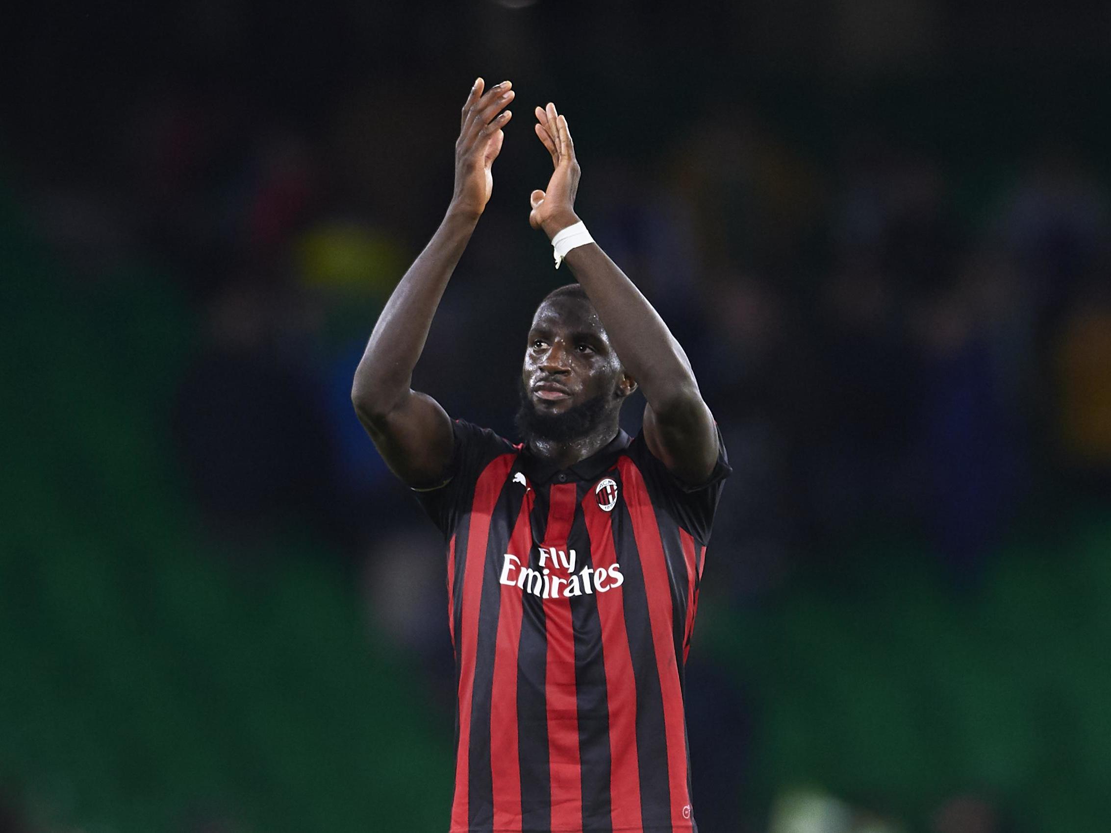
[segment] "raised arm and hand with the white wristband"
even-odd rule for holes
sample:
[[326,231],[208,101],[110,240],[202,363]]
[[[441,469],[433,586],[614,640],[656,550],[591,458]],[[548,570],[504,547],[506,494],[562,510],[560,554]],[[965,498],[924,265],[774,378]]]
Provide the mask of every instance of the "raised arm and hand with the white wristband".
[[[579,222],[574,195],[579,163],[567,119],[556,106],[537,108],[536,131],[551,153],[554,171],[546,191],[533,191],[529,222],[553,238]],[[682,347],[648,299],[597,243],[568,252],[564,262],[598,310],[625,371],[648,400],[644,440],[649,450],[677,478],[690,485],[704,483],[718,458],[713,416]]]

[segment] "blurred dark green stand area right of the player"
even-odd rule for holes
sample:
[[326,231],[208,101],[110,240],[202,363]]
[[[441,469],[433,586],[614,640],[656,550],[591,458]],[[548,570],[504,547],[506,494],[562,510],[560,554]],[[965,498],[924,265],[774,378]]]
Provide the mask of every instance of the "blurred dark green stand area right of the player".
[[1055,532],[1017,536],[982,596],[895,538],[714,615],[709,650],[753,688],[760,800],[817,785],[927,830],[943,796],[973,793],[1018,831],[1105,830],[1111,523],[1078,510]]

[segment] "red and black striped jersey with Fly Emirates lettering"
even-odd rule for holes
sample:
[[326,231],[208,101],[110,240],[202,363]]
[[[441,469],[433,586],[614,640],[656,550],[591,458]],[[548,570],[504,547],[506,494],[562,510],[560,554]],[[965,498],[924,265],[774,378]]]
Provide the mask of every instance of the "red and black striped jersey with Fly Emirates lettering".
[[450,479],[417,493],[448,540],[451,833],[697,831],[683,666],[731,471],[720,430],[697,489],[643,433],[557,470],[453,430]]

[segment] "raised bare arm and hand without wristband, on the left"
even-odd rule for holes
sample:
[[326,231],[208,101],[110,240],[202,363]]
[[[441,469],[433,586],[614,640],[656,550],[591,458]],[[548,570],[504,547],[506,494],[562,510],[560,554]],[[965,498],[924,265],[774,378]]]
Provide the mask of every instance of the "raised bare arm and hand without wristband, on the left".
[[356,370],[351,402],[379,452],[402,481],[438,485],[451,459],[451,421],[409,385],[432,317],[493,190],[491,165],[512,114],[509,81],[483,91],[474,82],[456,141],[456,188],[440,228],[387,301]]

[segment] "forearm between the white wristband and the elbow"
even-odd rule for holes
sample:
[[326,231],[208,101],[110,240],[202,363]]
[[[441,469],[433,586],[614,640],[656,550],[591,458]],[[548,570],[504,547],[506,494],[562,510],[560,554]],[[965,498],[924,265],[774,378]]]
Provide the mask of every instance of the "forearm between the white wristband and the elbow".
[[563,259],[598,310],[625,370],[658,413],[697,393],[690,361],[668,325],[637,285],[597,243]]

